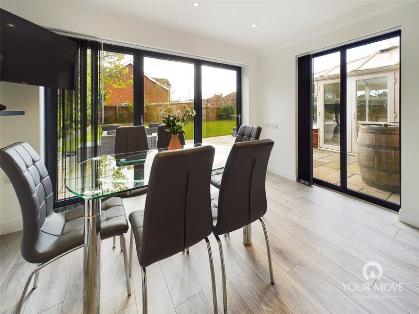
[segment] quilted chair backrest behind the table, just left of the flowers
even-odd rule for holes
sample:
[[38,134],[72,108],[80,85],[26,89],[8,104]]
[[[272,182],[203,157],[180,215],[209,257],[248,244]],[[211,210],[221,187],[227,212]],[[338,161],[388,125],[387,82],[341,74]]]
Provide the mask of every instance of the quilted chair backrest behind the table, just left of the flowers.
[[148,140],[144,125],[120,126],[116,129],[115,154],[146,150],[148,150]]

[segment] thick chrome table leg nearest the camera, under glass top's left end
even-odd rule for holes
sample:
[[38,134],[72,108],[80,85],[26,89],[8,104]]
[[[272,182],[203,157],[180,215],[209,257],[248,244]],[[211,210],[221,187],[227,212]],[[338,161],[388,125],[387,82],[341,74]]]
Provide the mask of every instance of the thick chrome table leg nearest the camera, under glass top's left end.
[[84,201],[83,313],[100,311],[100,199]]

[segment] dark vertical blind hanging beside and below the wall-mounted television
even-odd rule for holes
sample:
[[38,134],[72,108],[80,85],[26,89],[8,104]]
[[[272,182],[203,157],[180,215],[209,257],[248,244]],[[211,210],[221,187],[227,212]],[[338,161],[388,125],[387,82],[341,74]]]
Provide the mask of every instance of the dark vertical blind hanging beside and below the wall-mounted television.
[[101,46],[98,41],[68,37],[77,43],[74,90],[45,88],[46,166],[54,189],[54,208],[80,199],[68,192],[64,178],[77,163],[97,156],[101,106]]

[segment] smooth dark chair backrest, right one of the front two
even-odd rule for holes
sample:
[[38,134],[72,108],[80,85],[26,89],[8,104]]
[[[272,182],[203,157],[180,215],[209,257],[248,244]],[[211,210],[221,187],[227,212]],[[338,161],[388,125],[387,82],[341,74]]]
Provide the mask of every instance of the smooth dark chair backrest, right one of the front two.
[[216,234],[244,227],[267,210],[265,179],[272,140],[233,144],[219,189]]

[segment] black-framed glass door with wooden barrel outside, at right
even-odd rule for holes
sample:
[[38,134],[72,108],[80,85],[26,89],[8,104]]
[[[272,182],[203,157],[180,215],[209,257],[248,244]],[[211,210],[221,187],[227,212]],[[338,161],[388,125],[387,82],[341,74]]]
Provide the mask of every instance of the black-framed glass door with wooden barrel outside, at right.
[[400,32],[312,55],[314,183],[400,209],[400,70]]

